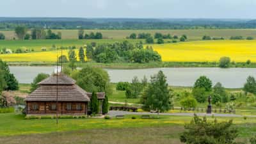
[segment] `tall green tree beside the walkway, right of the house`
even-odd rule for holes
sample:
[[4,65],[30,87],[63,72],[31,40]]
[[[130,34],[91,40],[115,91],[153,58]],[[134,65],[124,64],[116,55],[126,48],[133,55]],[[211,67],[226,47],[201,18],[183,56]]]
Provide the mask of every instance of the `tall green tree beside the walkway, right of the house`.
[[151,77],[144,97],[143,108],[157,111],[158,116],[159,112],[162,113],[172,108],[170,88],[166,83],[166,76],[161,70],[157,75]]

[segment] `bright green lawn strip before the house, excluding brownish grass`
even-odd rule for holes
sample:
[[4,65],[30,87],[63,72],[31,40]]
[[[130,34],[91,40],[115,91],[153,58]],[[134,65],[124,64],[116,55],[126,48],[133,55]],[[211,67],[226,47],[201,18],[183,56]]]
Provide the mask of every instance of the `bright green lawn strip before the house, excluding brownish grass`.
[[[131,127],[167,127],[179,126],[190,122],[191,116],[160,116],[159,119],[141,119],[136,116],[131,119],[125,116],[124,119],[112,118],[105,120],[104,118],[63,118],[60,124],[56,125],[55,119],[34,119],[26,120],[24,115],[15,115],[15,113],[0,114],[0,136],[14,136],[20,134],[42,134],[49,132],[76,131],[83,129],[112,129],[112,128],[131,128]],[[214,118],[209,117],[209,120]],[[227,121],[230,118],[218,118],[220,121]],[[256,131],[256,118],[232,118],[236,127],[241,129],[240,136],[251,136]],[[250,127],[244,128],[246,125]]]

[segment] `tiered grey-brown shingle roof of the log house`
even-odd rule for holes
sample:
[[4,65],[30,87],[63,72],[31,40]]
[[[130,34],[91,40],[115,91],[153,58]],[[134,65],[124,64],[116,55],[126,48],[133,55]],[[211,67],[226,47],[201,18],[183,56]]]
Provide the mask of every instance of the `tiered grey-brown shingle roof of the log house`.
[[[28,97],[26,101],[56,101],[57,99],[57,77],[50,76],[44,79]],[[92,93],[84,91],[77,86],[76,81],[63,74],[58,75],[58,101],[79,101],[88,102]],[[105,93],[97,93],[98,99],[105,99]]]

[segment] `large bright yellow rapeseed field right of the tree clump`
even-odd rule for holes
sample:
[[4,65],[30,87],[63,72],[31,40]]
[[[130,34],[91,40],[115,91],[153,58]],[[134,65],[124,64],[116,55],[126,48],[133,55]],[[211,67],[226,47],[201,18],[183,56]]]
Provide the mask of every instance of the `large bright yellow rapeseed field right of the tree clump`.
[[256,62],[256,40],[211,40],[152,45],[163,61],[219,61],[228,56],[232,61]]

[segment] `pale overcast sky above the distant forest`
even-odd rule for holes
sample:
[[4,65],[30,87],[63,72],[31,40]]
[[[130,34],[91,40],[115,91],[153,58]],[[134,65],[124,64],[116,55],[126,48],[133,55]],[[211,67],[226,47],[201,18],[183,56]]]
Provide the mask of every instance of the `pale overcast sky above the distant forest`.
[[256,0],[2,0],[0,17],[256,19]]

